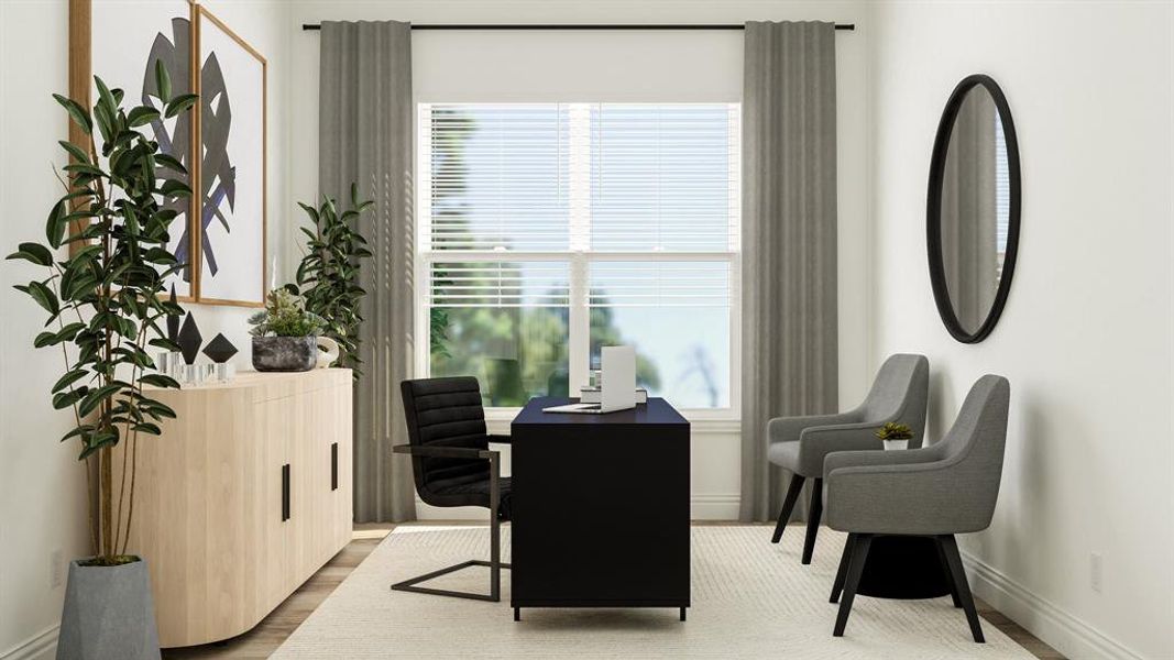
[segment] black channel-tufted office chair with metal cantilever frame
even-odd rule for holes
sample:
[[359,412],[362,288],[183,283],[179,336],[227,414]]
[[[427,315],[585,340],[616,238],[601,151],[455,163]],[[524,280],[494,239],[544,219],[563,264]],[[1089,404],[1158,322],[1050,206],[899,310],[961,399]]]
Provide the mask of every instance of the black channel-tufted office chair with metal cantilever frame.
[[[490,510],[490,560],[471,559],[391,585],[396,591],[451,595],[474,600],[501,600],[501,521],[510,519],[510,479],[500,478],[501,456],[490,443],[508,443],[508,436],[485,432],[485,409],[477,378],[425,378],[399,384],[411,444],[396,445],[394,453],[412,457],[416,492],[432,506],[485,506]],[[470,566],[488,566],[490,594],[416,586]]]

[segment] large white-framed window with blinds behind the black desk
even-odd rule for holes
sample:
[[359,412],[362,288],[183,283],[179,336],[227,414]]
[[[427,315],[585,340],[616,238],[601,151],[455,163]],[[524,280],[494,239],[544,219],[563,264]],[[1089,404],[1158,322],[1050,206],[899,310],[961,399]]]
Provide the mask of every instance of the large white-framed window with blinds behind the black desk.
[[630,344],[652,396],[736,402],[740,107],[423,103],[421,372],[571,396]]

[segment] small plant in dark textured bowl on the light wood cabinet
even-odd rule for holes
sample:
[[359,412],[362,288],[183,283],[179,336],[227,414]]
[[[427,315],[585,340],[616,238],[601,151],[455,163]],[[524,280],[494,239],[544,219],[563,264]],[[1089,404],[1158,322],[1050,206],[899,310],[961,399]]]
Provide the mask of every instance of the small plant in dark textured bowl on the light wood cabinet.
[[249,318],[252,368],[257,371],[309,371],[318,363],[318,332],[326,326],[288,289],[271,291],[265,310]]

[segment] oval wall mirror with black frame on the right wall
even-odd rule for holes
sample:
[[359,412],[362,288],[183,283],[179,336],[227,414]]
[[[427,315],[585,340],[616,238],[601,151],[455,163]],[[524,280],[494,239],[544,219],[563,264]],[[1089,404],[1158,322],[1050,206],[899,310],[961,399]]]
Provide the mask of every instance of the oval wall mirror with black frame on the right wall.
[[930,161],[930,281],[938,314],[959,342],[999,322],[1019,243],[1019,146],[1003,90],[970,75],[946,101]]

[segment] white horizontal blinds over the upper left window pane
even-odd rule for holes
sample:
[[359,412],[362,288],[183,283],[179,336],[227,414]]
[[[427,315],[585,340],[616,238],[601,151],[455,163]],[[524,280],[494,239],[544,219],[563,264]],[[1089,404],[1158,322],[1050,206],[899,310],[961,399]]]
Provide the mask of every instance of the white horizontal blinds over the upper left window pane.
[[433,250],[568,249],[567,112],[430,106]]

